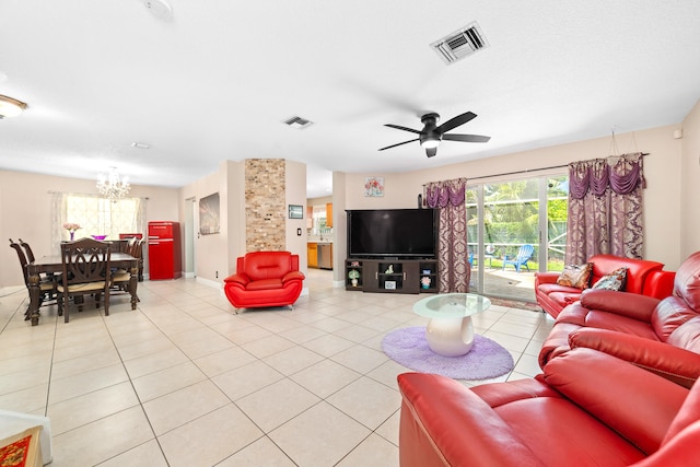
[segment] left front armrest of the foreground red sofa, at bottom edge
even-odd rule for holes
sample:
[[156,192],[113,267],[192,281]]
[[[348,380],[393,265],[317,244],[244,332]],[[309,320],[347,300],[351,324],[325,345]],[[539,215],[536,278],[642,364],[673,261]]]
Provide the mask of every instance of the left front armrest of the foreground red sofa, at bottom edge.
[[458,382],[404,373],[398,376],[398,386],[402,395],[401,467],[462,465],[467,459],[470,465],[483,466],[544,465],[513,428]]

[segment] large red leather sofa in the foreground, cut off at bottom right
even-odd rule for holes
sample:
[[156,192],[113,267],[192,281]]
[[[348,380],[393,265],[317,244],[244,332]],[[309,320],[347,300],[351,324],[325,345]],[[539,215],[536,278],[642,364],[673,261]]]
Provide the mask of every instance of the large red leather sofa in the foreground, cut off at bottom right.
[[691,389],[592,349],[532,380],[467,388],[405,373],[401,467],[700,464],[700,385]]

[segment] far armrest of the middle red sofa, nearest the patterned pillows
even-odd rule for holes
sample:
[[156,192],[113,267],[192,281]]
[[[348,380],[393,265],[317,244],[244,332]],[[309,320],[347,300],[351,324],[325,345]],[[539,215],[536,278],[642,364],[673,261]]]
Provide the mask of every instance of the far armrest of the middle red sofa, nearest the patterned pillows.
[[652,313],[660,300],[639,293],[614,290],[586,290],[581,294],[581,304],[588,310],[598,310],[628,318],[651,323]]

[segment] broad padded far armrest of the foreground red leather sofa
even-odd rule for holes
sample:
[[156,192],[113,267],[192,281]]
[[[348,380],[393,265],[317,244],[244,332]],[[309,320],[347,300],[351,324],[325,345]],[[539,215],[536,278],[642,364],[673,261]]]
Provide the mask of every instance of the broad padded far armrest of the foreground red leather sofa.
[[593,349],[545,365],[545,381],[645,453],[661,446],[688,389]]

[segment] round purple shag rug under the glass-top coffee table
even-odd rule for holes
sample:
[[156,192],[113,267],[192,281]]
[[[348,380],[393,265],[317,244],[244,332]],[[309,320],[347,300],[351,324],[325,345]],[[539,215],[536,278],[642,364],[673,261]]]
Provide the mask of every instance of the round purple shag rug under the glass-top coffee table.
[[443,357],[428,347],[424,327],[396,329],[382,340],[382,350],[401,365],[454,380],[489,380],[513,370],[513,357],[483,336],[474,336],[474,347],[464,357]]

